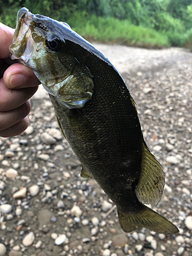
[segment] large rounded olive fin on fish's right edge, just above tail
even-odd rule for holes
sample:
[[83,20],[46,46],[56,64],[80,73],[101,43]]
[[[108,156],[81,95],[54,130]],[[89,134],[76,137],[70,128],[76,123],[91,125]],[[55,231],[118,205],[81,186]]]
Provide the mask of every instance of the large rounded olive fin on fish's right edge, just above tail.
[[156,206],[163,194],[165,176],[160,163],[143,143],[141,175],[136,185],[136,195],[141,203]]

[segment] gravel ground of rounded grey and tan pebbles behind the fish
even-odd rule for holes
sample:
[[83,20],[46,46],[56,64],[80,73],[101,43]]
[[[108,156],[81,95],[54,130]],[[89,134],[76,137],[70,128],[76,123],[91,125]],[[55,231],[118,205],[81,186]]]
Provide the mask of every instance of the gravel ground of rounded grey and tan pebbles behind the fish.
[[154,209],[180,233],[122,231],[112,201],[94,180],[80,177],[80,163],[40,88],[28,129],[0,139],[0,256],[192,255],[192,54],[95,46],[137,103],[146,143],[166,175]]

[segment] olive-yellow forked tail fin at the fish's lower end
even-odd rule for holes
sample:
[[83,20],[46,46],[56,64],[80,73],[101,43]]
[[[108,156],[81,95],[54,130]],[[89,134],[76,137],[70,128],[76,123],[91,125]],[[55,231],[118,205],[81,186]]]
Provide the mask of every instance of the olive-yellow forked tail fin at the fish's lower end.
[[163,234],[178,233],[178,228],[154,210],[143,205],[143,209],[136,214],[127,214],[117,210],[119,223],[125,232],[132,232],[136,228],[148,228]]

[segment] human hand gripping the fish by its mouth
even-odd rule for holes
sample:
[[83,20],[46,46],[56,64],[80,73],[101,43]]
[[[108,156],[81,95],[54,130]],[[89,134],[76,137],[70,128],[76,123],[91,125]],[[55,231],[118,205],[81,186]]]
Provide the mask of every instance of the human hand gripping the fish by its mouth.
[[[9,46],[14,30],[0,23],[0,136],[16,136],[29,125],[30,98],[40,81],[32,69],[14,63],[8,65]],[[5,72],[4,72],[5,71]]]

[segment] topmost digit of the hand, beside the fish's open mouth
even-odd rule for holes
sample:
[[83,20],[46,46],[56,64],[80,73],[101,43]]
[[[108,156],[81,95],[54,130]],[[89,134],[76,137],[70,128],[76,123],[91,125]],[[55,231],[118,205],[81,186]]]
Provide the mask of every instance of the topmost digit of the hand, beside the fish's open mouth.
[[12,44],[14,29],[0,23],[0,58],[9,57],[9,46]]

